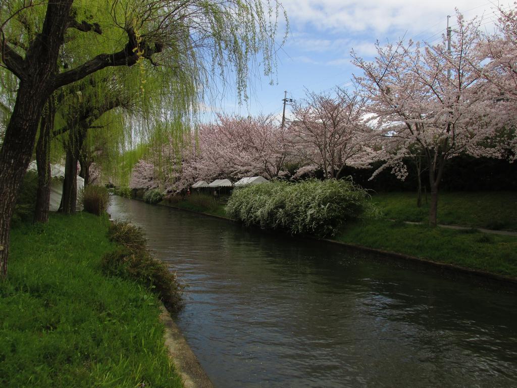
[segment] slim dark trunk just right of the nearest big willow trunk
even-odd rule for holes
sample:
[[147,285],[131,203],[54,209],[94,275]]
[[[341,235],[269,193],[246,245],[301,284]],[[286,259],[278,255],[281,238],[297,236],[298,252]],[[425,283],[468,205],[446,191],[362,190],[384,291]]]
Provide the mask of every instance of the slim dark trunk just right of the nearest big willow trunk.
[[47,110],[41,117],[38,144],[36,145],[36,162],[38,165],[38,190],[36,192],[36,209],[34,222],[49,220],[50,204],[50,133],[54,128],[54,99],[47,100]]

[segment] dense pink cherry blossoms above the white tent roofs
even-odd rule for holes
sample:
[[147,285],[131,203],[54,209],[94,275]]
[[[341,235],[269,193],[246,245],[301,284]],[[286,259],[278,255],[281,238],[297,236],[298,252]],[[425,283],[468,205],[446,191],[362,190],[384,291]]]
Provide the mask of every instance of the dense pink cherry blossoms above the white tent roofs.
[[285,176],[283,167],[291,149],[290,133],[271,116],[220,115],[217,123],[202,124],[187,133],[179,148],[167,146],[164,153],[171,168],[166,185],[178,191],[197,180]]

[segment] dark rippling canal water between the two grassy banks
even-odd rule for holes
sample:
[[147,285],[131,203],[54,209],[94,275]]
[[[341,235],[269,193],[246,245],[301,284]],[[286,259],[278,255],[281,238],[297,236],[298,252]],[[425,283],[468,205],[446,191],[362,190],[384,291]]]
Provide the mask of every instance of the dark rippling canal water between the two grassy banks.
[[517,294],[425,265],[113,197],[187,285],[218,388],[516,387]]

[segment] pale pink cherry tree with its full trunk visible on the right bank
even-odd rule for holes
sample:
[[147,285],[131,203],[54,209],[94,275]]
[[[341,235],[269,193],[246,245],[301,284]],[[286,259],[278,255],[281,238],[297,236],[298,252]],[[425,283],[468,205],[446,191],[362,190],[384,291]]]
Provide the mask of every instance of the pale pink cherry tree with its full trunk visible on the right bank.
[[[429,223],[436,225],[438,188],[447,161],[460,153],[498,156],[499,147],[486,147],[494,136],[486,114],[492,100],[475,66],[478,60],[476,22],[458,14],[451,52],[446,38],[436,46],[409,41],[377,44],[377,57],[364,61],[352,52],[362,70],[356,81],[371,99],[370,123],[378,135],[396,143],[386,153],[386,165],[399,165],[410,146],[418,145],[429,166]],[[400,168],[403,171],[403,168]]]

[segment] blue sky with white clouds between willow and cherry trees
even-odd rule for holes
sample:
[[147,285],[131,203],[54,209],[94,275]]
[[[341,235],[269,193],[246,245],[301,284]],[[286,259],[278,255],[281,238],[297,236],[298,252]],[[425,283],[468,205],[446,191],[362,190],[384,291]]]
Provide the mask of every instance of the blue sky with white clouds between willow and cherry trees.
[[[509,2],[486,0],[284,0],[291,31],[278,53],[275,85],[265,78],[250,82],[250,100],[239,105],[228,93],[216,103],[214,111],[255,115],[282,115],[282,98],[300,99],[305,88],[328,91],[336,85],[346,87],[358,70],[350,63],[354,49],[364,58],[373,58],[375,42],[406,39],[439,42],[445,33],[447,15],[454,28],[455,8],[465,19],[482,17],[481,28],[493,31],[495,7],[510,9]],[[287,107],[287,114],[289,113]]]

